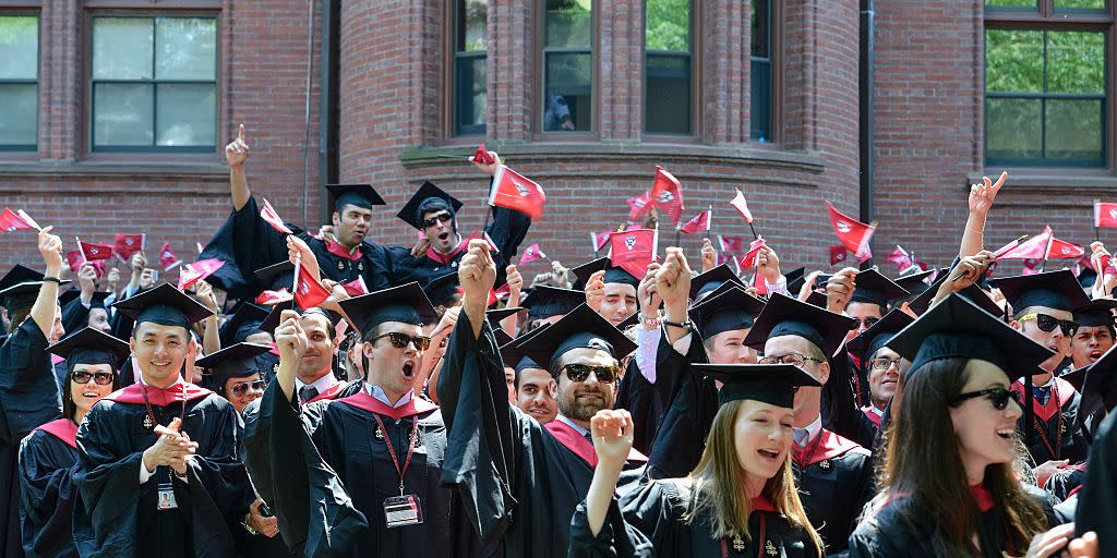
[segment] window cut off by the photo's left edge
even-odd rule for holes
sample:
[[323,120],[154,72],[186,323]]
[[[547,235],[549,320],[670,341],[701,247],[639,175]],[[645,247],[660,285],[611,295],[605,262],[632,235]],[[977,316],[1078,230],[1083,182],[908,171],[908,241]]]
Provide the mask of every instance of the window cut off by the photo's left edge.
[[38,79],[39,18],[0,16],[0,150],[38,145]]

